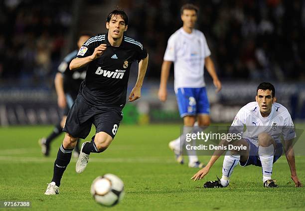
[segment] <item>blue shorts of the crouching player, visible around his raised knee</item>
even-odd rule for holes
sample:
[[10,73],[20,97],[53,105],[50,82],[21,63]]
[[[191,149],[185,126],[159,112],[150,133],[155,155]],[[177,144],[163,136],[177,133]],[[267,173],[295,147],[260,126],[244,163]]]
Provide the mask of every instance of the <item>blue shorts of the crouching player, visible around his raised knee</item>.
[[[262,163],[260,161],[260,157],[258,155],[258,147],[253,144],[250,140],[245,139],[248,142],[249,145],[249,157],[246,162],[239,161],[239,164],[241,166],[262,166]],[[276,142],[277,148],[274,151],[274,157],[273,157],[273,163],[275,163],[283,154],[283,144]]]

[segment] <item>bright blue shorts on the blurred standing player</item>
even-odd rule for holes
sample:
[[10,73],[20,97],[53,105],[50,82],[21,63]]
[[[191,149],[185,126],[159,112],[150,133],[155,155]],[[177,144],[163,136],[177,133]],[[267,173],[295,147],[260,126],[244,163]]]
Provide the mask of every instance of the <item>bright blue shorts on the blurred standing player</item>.
[[210,105],[205,87],[178,88],[176,98],[180,117],[210,114]]

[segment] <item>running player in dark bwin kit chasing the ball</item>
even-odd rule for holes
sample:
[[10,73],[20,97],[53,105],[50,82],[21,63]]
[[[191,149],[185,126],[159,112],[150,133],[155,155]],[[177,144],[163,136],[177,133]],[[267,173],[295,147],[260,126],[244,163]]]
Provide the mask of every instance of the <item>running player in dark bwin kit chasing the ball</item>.
[[138,80],[129,101],[141,97],[141,87],[148,65],[148,53],[143,45],[124,35],[128,16],[123,10],[110,12],[106,20],[108,33],[88,39],[70,63],[75,70],[88,65],[86,79],[68,114],[63,131],[66,132],[57,159],[53,179],[45,195],[59,193],[60,180],[71,160],[71,152],[78,138],[85,139],[94,124],[96,134],[91,142],[84,142],[76,163],[76,172],[85,170],[90,153],[105,151],[113,141],[123,118],[130,67],[139,62]]

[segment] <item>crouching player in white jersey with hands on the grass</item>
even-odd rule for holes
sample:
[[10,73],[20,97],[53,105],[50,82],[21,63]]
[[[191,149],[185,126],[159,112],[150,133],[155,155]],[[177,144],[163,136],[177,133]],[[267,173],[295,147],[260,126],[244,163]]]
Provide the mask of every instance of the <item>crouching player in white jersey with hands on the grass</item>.
[[[243,139],[236,140],[235,146],[246,146],[246,150],[228,151],[224,156],[222,178],[209,181],[204,188],[224,188],[229,185],[230,177],[234,168],[239,163],[241,166],[262,167],[263,184],[266,188],[276,188],[276,180],[272,179],[273,164],[281,157],[283,145],[281,136],[284,138],[284,149],[291,178],[295,187],[302,187],[297,176],[293,139],[296,137],[294,123],[288,110],[281,104],[276,103],[275,88],[271,83],[261,83],[256,91],[256,102],[250,102],[242,107],[237,113],[231,131],[243,131]],[[227,145],[223,140],[221,145]],[[220,157],[224,150],[216,150],[206,167],[198,171],[191,179],[196,181],[208,174],[210,168]]]

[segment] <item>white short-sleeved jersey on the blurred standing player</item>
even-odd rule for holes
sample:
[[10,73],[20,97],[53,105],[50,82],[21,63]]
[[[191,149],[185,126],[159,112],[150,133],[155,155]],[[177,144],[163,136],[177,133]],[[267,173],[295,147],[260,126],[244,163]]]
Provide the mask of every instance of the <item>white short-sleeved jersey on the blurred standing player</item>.
[[204,34],[196,29],[187,33],[181,27],[168,39],[164,61],[174,62],[174,87],[200,88],[204,82],[204,59],[211,51]]

